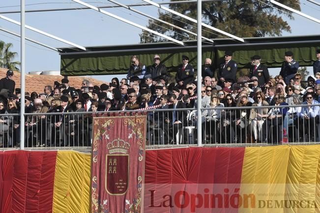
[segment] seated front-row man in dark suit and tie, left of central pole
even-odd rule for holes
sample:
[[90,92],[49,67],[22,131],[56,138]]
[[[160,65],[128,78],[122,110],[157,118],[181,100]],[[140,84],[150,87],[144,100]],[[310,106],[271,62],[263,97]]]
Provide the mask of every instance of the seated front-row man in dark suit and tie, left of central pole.
[[[172,103],[170,105],[170,109],[173,109],[172,114],[170,114],[170,118],[168,119],[168,123],[171,125],[171,136],[173,137],[173,142],[177,141],[177,133],[178,131],[187,124],[187,114],[186,111],[176,111],[175,109],[183,109],[186,108],[185,103],[182,101],[178,101],[175,95],[170,95],[169,101]],[[179,139],[178,139],[179,140]]]

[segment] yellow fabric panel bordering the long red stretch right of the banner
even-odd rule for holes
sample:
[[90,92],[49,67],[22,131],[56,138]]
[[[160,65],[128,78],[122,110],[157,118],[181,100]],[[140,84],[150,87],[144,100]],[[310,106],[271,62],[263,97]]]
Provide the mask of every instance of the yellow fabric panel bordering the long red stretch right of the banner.
[[[259,200],[283,200],[286,190],[290,146],[246,147],[241,175],[240,195],[252,197],[240,205],[241,213],[282,213],[274,208],[259,208]],[[243,199],[244,200],[244,199]],[[250,205],[253,204],[254,206]]]

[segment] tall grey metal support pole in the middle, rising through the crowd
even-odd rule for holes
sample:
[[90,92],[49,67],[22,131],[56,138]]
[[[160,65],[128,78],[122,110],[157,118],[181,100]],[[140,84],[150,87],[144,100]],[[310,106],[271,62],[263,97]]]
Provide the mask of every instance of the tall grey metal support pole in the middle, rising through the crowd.
[[202,108],[202,98],[201,98],[201,69],[202,69],[202,5],[201,0],[197,2],[197,108],[198,108],[198,122],[197,122],[197,139],[198,139],[198,146],[202,145],[202,118],[201,118],[201,108]]

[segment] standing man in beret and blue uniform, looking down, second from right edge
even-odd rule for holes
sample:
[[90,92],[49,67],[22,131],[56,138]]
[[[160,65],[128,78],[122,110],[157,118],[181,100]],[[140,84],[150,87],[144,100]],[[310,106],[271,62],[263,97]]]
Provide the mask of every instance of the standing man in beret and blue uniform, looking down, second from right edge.
[[291,51],[287,51],[285,53],[285,61],[282,63],[280,76],[282,76],[286,82],[289,84],[291,78],[298,72],[299,62],[293,59],[293,53]]

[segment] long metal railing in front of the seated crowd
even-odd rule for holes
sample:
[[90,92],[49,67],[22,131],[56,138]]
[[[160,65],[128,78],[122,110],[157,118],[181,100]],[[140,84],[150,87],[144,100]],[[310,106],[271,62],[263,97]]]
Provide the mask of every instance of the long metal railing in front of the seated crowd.
[[197,122],[202,124],[204,145],[317,144],[320,141],[319,106],[202,108],[201,119],[194,108],[27,113],[23,127],[19,114],[0,114],[0,147],[19,147],[20,128],[24,128],[26,148],[90,149],[94,116],[134,113],[147,116],[146,145],[149,148],[196,145]]

